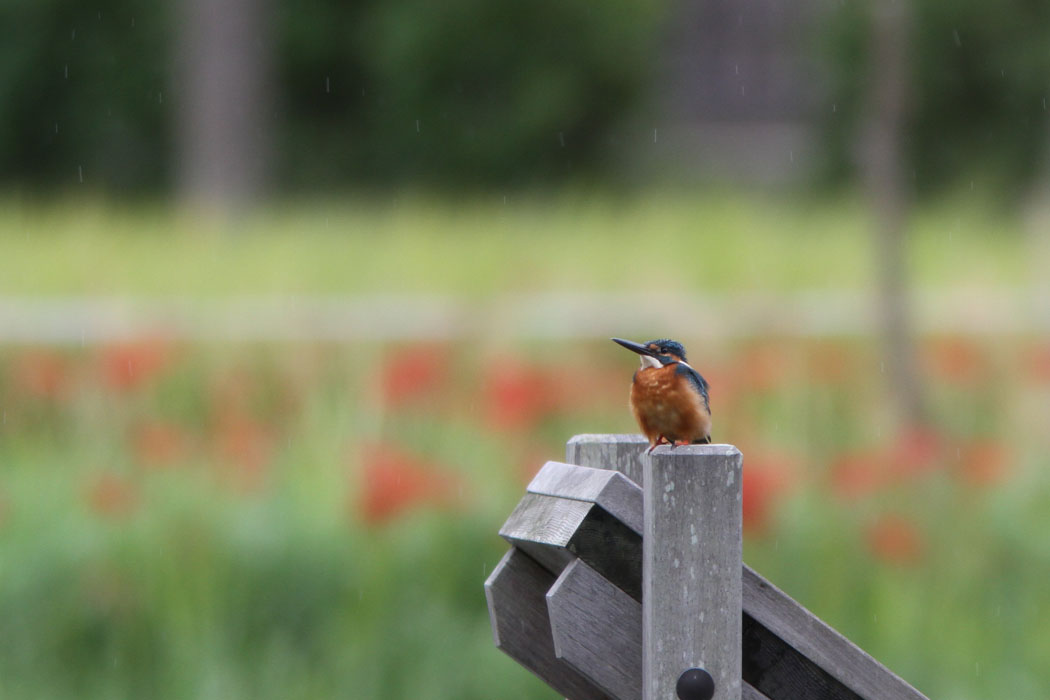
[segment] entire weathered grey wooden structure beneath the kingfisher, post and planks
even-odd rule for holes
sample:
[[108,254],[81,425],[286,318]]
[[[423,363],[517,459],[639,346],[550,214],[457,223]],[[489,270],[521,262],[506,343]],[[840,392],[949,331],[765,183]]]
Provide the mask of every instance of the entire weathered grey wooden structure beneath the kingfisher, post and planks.
[[736,447],[647,446],[576,436],[528,485],[485,581],[499,649],[570,700],[925,698],[743,564]]

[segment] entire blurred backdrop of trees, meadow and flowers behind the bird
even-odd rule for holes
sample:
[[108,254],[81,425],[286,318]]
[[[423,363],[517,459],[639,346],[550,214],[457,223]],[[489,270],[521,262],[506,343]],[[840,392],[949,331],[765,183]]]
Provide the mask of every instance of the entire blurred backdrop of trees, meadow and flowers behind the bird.
[[612,335],[749,564],[1046,697],[1050,8],[887,6],[8,0],[0,697],[556,697],[482,584]]

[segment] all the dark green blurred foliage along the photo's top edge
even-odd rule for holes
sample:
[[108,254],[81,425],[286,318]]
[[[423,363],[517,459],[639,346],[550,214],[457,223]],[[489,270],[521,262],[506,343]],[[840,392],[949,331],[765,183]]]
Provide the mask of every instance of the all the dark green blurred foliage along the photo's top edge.
[[[663,2],[273,0],[284,188],[537,185],[610,171],[662,68]],[[1015,192],[1047,141],[1045,3],[917,0],[909,163],[920,192],[976,179]],[[0,177],[155,192],[174,176],[177,7],[10,0],[0,9]],[[825,8],[813,56],[822,170],[857,161],[869,83],[863,2]],[[980,166],[974,166],[980,163]],[[848,177],[846,177],[848,179]]]

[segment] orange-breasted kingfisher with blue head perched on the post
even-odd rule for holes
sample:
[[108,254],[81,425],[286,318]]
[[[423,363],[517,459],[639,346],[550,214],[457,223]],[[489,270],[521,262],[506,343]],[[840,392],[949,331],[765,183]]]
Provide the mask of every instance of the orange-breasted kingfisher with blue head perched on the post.
[[631,410],[652,452],[657,445],[711,442],[711,400],[708,382],[686,362],[686,348],[676,340],[636,343],[613,338],[642,358],[631,380]]

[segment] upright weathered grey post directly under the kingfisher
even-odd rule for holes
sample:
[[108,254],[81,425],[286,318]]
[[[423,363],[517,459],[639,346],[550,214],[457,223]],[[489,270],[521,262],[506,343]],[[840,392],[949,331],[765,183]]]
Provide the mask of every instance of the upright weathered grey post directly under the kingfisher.
[[643,700],[678,697],[692,669],[714,681],[706,697],[740,700],[741,462],[731,445],[689,445],[645,464]]

